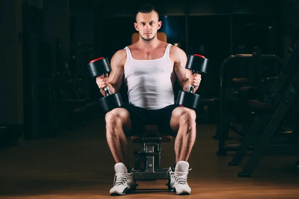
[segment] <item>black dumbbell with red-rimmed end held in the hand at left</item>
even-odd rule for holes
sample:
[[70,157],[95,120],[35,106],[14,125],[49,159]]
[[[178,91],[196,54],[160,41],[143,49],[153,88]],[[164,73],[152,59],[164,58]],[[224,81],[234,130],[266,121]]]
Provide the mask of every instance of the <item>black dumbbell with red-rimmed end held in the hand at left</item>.
[[[112,71],[108,59],[104,57],[90,61],[86,68],[90,78],[96,78]],[[104,90],[106,97],[99,99],[104,112],[108,112],[124,104],[120,93],[111,94],[109,87],[105,87]]]

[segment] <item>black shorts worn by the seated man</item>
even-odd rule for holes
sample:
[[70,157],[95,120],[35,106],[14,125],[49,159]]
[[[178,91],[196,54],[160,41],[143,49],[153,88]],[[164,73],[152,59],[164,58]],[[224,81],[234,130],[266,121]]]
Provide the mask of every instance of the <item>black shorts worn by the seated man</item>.
[[148,110],[138,106],[134,106],[130,103],[125,103],[122,108],[129,111],[132,128],[129,132],[125,132],[127,136],[141,135],[147,124],[156,124],[159,129],[165,132],[167,135],[176,136],[170,127],[171,114],[174,108],[178,107],[177,104],[168,105],[164,108],[156,110]]

